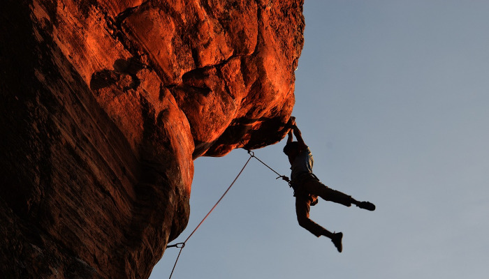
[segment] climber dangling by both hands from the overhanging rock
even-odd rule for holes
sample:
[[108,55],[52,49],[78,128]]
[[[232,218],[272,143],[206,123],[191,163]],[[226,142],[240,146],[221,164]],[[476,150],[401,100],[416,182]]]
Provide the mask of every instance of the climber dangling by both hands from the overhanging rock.
[[[353,197],[341,193],[340,191],[328,188],[321,183],[312,173],[312,153],[309,147],[302,140],[299,128],[295,125],[295,118],[291,117],[288,126],[290,128],[287,138],[287,144],[284,147],[284,153],[289,157],[291,163],[291,187],[295,196],[295,213],[301,227],[304,227],[315,236],[327,236],[331,239],[338,252],[342,252],[342,232],[330,232],[328,229],[321,227],[309,219],[310,206],[317,204],[317,197],[326,201],[336,202],[344,206],[355,204],[360,209],[375,210],[375,205],[371,202],[358,202]],[[293,135],[297,142],[293,142]]]

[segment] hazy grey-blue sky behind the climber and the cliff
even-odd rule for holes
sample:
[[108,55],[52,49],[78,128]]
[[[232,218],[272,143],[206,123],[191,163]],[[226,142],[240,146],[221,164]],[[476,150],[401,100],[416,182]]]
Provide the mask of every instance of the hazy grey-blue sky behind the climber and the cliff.
[[[296,70],[297,117],[314,173],[370,200],[320,200],[311,218],[343,232],[343,252],[295,219],[292,190],[252,160],[184,248],[173,278],[487,278],[489,1],[312,1]],[[285,142],[255,151],[282,174]],[[184,241],[247,152],[198,158]],[[168,249],[152,279],[168,278]]]

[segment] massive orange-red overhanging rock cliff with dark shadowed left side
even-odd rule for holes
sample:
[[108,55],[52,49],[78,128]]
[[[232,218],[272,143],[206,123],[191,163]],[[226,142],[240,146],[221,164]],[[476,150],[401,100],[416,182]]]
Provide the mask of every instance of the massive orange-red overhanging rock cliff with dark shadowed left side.
[[286,134],[301,0],[6,0],[0,13],[6,278],[147,278],[187,225],[193,160]]

